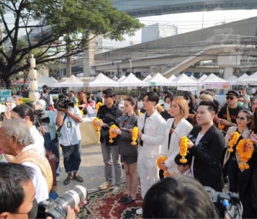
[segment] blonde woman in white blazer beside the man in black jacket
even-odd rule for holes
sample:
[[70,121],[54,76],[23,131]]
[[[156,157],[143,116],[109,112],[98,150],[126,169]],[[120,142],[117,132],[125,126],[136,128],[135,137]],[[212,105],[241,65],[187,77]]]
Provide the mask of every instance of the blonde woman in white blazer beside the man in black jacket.
[[[163,162],[163,168],[166,168],[170,174],[173,174],[178,172],[174,160],[176,155],[179,154],[179,136],[188,136],[192,130],[192,124],[186,120],[189,108],[188,102],[183,97],[175,97],[168,112],[174,118],[167,120],[161,154],[165,154],[168,157]],[[173,132],[173,129],[179,136]]]

